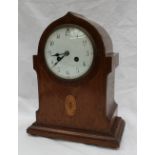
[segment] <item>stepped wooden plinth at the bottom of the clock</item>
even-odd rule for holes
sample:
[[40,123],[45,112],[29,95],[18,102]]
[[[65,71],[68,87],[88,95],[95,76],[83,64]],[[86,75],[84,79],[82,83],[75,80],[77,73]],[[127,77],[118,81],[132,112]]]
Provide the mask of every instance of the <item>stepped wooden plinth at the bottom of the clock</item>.
[[101,134],[97,132],[89,132],[85,130],[61,128],[55,126],[43,126],[37,123],[32,124],[27,132],[35,136],[43,136],[54,139],[64,139],[85,144],[93,144],[102,147],[118,148],[125,122],[121,117],[116,117],[111,132],[109,134]]

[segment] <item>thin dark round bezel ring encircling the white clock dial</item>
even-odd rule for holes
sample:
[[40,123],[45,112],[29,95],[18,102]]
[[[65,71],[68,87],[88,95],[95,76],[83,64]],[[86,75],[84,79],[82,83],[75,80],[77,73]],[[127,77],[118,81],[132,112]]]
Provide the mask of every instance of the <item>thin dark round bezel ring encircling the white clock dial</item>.
[[[89,38],[89,40],[90,40],[90,42],[91,42],[91,45],[92,45],[92,48],[93,48],[93,59],[92,59],[92,63],[91,63],[91,65],[90,65],[90,67],[89,67],[89,69],[84,73],[84,74],[82,74],[81,76],[78,76],[78,77],[76,77],[76,78],[63,78],[63,77],[61,77],[61,76],[58,76],[57,74],[55,74],[52,70],[51,70],[51,68],[49,67],[49,65],[48,65],[48,63],[47,63],[47,60],[46,60],[46,51],[45,51],[45,46],[46,46],[46,43],[47,43],[47,40],[49,39],[49,37],[52,35],[52,33],[54,33],[55,31],[57,31],[57,30],[59,30],[59,29],[61,29],[61,28],[67,28],[67,27],[75,27],[75,28],[77,28],[77,29],[79,29],[80,31],[82,31],[85,35],[87,35],[87,37]],[[95,59],[95,43],[94,43],[94,40],[93,40],[93,38],[92,38],[92,36],[89,34],[89,32],[86,30],[86,29],[84,29],[83,27],[81,27],[81,26],[79,26],[79,25],[76,25],[76,24],[62,24],[62,25],[59,25],[59,26],[57,26],[57,27],[55,27],[54,29],[53,29],[53,31],[51,31],[51,33],[48,35],[48,37],[46,38],[46,41],[45,41],[45,46],[44,46],[44,59],[45,59],[45,63],[46,63],[46,66],[47,66],[47,68],[48,68],[48,70],[51,72],[51,74],[53,74],[54,76],[56,76],[57,78],[59,78],[59,79],[62,79],[62,80],[67,80],[67,81],[73,81],[73,80],[77,80],[77,79],[80,79],[80,78],[82,78],[82,77],[84,77],[84,76],[86,76],[87,74],[89,74],[89,72],[90,72],[90,70],[91,70],[91,68],[93,67],[93,65],[94,65],[94,59]]]

